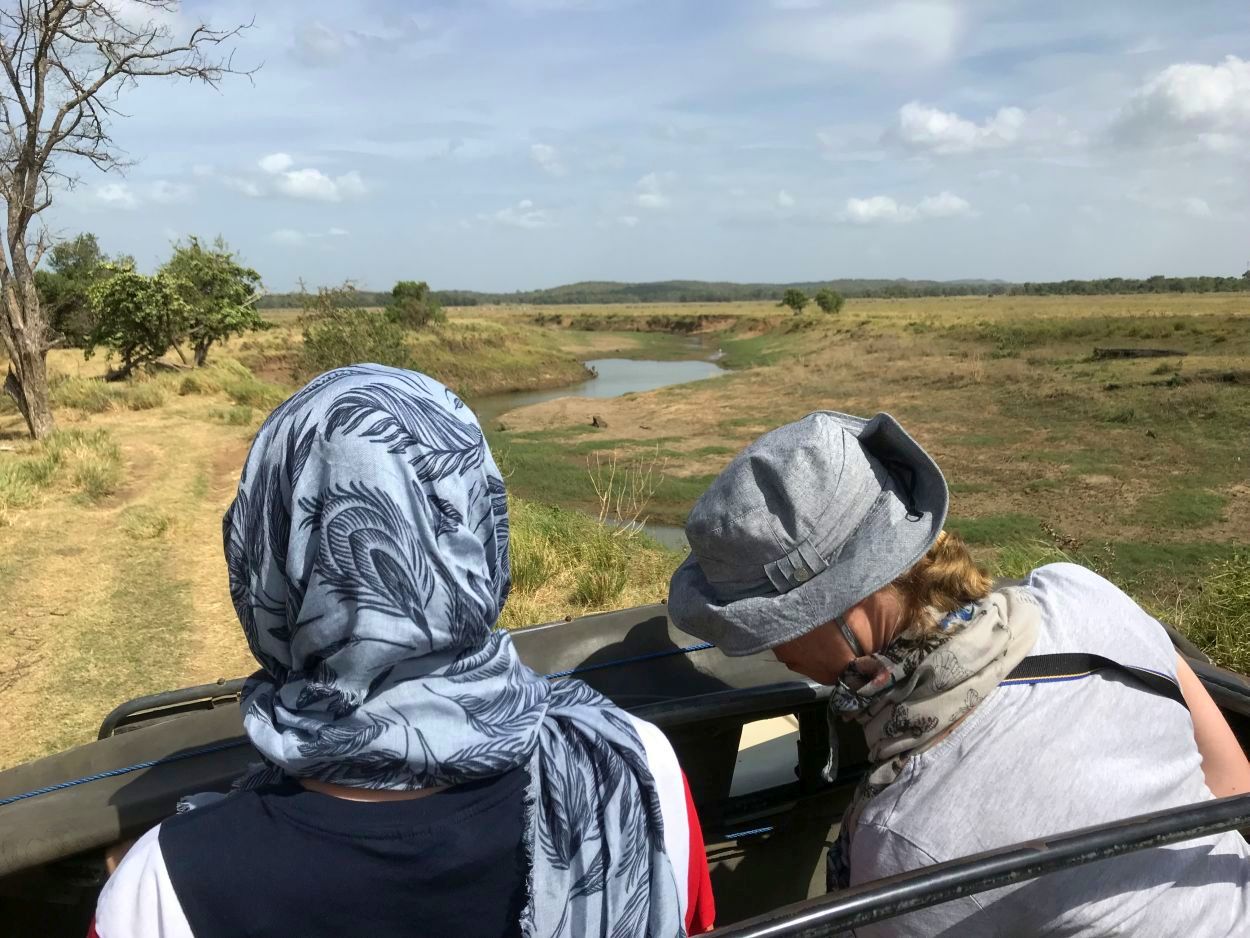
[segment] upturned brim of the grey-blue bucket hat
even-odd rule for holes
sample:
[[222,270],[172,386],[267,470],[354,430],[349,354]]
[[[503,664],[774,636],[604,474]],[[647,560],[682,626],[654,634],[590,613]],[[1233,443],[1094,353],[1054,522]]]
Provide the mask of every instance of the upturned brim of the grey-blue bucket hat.
[[[950,497],[938,464],[889,414],[834,418],[886,466],[910,498],[882,489],[864,523],[826,569],[786,593],[761,592],[720,603],[694,554],[669,583],[669,615],[724,654],[756,654],[831,622],[911,569],[946,523]],[[910,474],[899,479],[899,474]],[[909,504],[910,503],[910,504]]]

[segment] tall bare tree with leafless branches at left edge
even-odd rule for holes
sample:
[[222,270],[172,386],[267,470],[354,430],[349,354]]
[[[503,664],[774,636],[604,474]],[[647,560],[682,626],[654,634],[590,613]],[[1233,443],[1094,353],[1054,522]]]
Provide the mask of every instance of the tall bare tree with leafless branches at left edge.
[[4,389],[30,435],[52,429],[48,350],[54,344],[35,291],[49,246],[39,214],[75,168],[124,165],[110,136],[120,95],[140,79],[216,85],[239,74],[229,45],[246,26],[182,26],[176,0],[8,0],[0,10],[0,340]]

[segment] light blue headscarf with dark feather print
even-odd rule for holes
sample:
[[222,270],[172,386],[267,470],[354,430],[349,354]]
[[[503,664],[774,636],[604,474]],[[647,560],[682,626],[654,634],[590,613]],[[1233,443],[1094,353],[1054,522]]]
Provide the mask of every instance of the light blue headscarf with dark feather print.
[[632,724],[494,628],[508,500],[451,391],[380,365],[321,375],[260,428],[224,528],[268,774],[416,789],[525,767],[524,933],[681,934]]

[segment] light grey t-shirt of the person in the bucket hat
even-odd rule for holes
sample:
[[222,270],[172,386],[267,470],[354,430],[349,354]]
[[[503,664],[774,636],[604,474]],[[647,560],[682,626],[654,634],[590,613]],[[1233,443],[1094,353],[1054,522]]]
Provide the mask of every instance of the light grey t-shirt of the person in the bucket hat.
[[[1075,564],[1035,570],[1032,654],[1176,677],[1162,627]],[[1131,678],[998,688],[865,807],[851,883],[1211,798],[1189,712]],[[859,938],[1250,934],[1250,848],[1228,833],[1140,850],[858,929]]]

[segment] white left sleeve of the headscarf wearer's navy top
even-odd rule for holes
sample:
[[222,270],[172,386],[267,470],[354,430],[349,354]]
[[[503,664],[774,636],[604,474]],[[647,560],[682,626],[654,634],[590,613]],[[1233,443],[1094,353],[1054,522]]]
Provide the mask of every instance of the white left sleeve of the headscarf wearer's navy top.
[[139,838],[95,907],[99,938],[194,938],[160,849],[160,825]]

